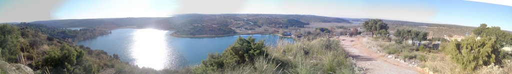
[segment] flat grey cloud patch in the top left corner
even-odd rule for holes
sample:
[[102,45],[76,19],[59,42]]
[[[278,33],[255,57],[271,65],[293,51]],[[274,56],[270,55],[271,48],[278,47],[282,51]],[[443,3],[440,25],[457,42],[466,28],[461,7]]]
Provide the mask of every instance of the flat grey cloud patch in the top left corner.
[[0,1],[0,22],[50,20],[51,12],[61,3],[52,1]]

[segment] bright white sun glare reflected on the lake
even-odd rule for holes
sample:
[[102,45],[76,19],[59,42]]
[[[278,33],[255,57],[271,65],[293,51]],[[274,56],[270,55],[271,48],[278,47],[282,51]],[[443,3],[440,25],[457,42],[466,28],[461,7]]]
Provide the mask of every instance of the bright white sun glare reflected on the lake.
[[134,33],[132,57],[139,67],[150,67],[157,70],[165,68],[168,47],[165,42],[167,31],[156,29],[140,29]]

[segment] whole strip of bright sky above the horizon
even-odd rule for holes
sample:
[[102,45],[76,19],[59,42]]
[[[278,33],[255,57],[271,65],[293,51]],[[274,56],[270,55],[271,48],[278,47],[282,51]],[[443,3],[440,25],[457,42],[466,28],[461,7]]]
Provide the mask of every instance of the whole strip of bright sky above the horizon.
[[0,0],[0,22],[52,19],[170,17],[175,14],[306,14],[380,18],[512,31],[507,0]]

